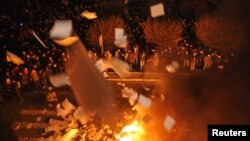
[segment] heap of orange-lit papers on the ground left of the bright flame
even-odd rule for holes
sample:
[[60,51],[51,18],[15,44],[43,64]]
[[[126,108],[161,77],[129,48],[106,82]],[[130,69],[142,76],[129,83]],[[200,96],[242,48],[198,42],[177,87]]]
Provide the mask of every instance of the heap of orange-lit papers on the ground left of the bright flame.
[[50,119],[49,126],[45,128],[44,136],[51,135],[48,138],[40,138],[40,141],[69,141],[75,140],[112,140],[114,130],[102,120],[97,120],[95,112],[87,112],[82,107],[77,107],[65,99],[57,106],[58,116],[63,119]]

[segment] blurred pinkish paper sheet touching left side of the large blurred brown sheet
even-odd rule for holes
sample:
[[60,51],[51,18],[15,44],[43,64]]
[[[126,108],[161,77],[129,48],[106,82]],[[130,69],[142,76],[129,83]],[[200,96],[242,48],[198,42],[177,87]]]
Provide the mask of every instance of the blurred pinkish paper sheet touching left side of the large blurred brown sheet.
[[70,85],[69,79],[64,73],[52,75],[49,77],[49,80],[54,87]]

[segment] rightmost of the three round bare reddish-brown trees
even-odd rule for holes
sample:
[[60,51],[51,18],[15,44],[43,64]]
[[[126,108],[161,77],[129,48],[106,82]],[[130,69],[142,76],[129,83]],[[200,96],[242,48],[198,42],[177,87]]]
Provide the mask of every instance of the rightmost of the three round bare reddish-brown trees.
[[198,40],[211,48],[235,51],[247,43],[244,26],[230,18],[204,16],[195,23],[195,30]]

